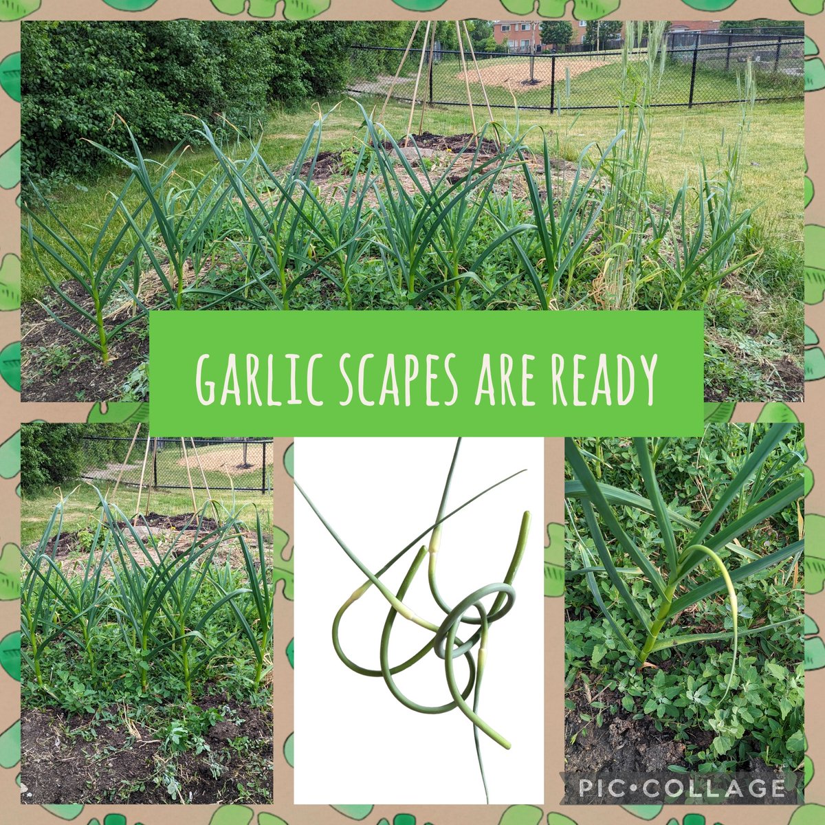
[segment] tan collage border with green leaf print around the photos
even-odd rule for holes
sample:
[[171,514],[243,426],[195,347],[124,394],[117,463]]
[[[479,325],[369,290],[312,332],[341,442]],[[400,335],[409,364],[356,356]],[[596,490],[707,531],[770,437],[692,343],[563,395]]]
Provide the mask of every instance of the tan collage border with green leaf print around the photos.
[[[240,0],[238,0],[240,2]],[[7,19],[13,8],[23,11],[34,9],[29,19],[172,19],[176,17],[193,17],[200,19],[260,19],[271,16],[282,19],[286,8],[288,16],[301,16],[300,2],[290,2],[289,6],[271,0],[252,0],[252,10],[257,17],[244,12],[228,18],[219,13],[210,0],[157,0],[145,12],[119,12],[106,4],[105,0],[0,0],[0,17]],[[806,31],[814,42],[822,42],[825,47],[825,13],[823,0],[541,0],[538,12],[544,16],[575,16],[594,18],[607,16],[617,19],[741,19],[749,17],[773,17],[778,19],[800,19],[806,24]],[[705,7],[728,4],[724,10],[702,12],[695,5]],[[508,2],[507,5],[514,5]],[[518,6],[518,3],[515,3]],[[521,8],[528,6],[524,3]],[[35,6],[39,6],[35,9]],[[800,13],[812,12],[812,13]],[[604,14],[604,12],[610,12]],[[276,12],[276,13],[272,13]],[[455,17],[488,17],[497,19],[513,15],[501,2],[480,0],[448,0],[435,12],[421,14],[408,12],[391,0],[332,0],[321,18],[359,19],[415,19],[430,17],[432,19],[454,19]],[[531,8],[528,15],[538,16]],[[19,50],[19,24],[16,21],[0,22],[0,58]],[[20,107],[4,93],[0,92],[0,153],[19,139]],[[818,130],[825,122],[825,90],[808,93],[805,101],[806,140],[808,141],[808,176],[814,186],[822,181],[825,187],[825,152],[819,149]],[[799,181],[800,190],[802,181]],[[16,208],[17,189],[0,190],[0,205],[4,219],[0,223],[0,257],[9,254],[19,256],[19,233],[16,231],[18,210]],[[825,196],[814,197],[806,212],[808,224],[825,224]],[[825,261],[815,262],[825,269]],[[807,307],[806,320],[813,330],[821,330],[825,337],[825,304],[819,303]],[[0,349],[8,343],[19,340],[19,313],[16,311],[0,312]],[[14,544],[19,542],[19,499],[16,493],[19,474],[19,452],[14,466],[15,437],[20,422],[42,419],[46,421],[84,421],[88,416],[103,420],[106,413],[112,414],[103,405],[88,403],[64,404],[21,404],[19,394],[0,382],[0,544],[5,545],[0,557],[0,577],[3,573],[17,575],[17,559]],[[809,381],[806,387],[806,403],[785,405],[740,404],[733,413],[737,421],[756,420],[764,416],[792,416],[806,421],[808,443],[808,464],[813,470],[814,478],[820,474],[825,479],[825,435],[821,430],[822,410],[825,408],[825,381]],[[112,405],[113,407],[116,405]],[[137,405],[135,405],[137,406]],[[137,416],[139,412],[124,413]],[[122,420],[122,419],[121,419]],[[279,439],[278,450],[283,453],[289,446],[289,439]],[[563,451],[559,439],[545,442],[545,523],[560,524],[563,521]],[[822,466],[820,466],[822,465]],[[281,467],[279,474],[278,468]],[[290,542],[284,551],[284,562],[288,566],[293,552],[292,546],[292,484],[282,464],[276,462],[276,474],[273,479],[275,488],[275,523],[290,536]],[[806,502],[806,530],[809,534],[806,557],[809,562],[825,557],[825,548],[817,541],[820,530],[818,520],[825,519],[825,482],[814,485]],[[821,516],[818,514],[822,514]],[[823,522],[825,523],[825,522]],[[11,545],[11,546],[10,546]],[[300,550],[299,550],[300,552]],[[546,563],[550,568],[563,564],[563,546],[557,539],[552,544],[548,540]],[[813,576],[810,577],[813,580]],[[819,624],[825,623],[825,596],[822,582],[818,593],[811,592],[809,585],[806,609],[808,616]],[[793,825],[816,825],[825,823],[825,779],[816,772],[816,766],[822,766],[825,774],[825,732],[823,732],[823,672],[811,670],[806,674],[806,731],[808,733],[808,758],[814,769],[813,780],[806,790],[807,803],[800,808],[785,806],[748,806],[748,807],[712,807],[681,808],[667,806],[648,806],[647,808],[625,809],[619,807],[588,808],[584,806],[559,805],[562,797],[562,784],[559,772],[563,770],[563,714],[561,697],[563,692],[563,600],[559,592],[554,592],[545,606],[544,634],[545,650],[545,696],[547,709],[545,742],[545,801],[543,808],[530,806],[513,806],[502,808],[484,807],[418,807],[406,808],[403,805],[381,806],[373,808],[369,804],[355,808],[336,809],[332,807],[295,806],[292,804],[292,769],[285,761],[281,746],[292,732],[292,671],[285,656],[285,648],[292,639],[291,604],[282,592],[276,596],[276,630],[275,630],[275,795],[273,804],[266,808],[244,808],[243,806],[191,806],[182,808],[175,805],[158,806],[21,806],[20,792],[16,785],[19,771],[19,688],[6,672],[0,672],[0,819],[3,821],[21,821],[22,823],[48,823],[57,825],[60,820],[75,823],[92,823],[97,819],[104,825],[122,825],[122,823],[144,823],[144,825],[181,825],[181,823],[213,823],[213,825],[248,825],[257,818],[258,825],[347,825],[354,821],[364,823],[381,823],[390,825],[601,825],[607,818],[610,823],[639,823],[653,821],[661,825],[685,823],[685,825],[704,825],[704,823],[744,823],[749,825],[767,825],[767,823],[788,823]],[[19,605],[17,601],[0,601],[0,637],[14,632],[19,627]],[[817,636],[813,643],[822,643]],[[813,648],[812,648],[813,649]],[[807,660],[806,655],[806,660]],[[388,754],[388,758],[391,755]],[[411,777],[411,781],[419,780]],[[369,803],[369,800],[364,800]],[[699,819],[685,819],[686,815],[698,815]],[[407,816],[408,815],[408,816]],[[122,818],[117,818],[122,816]],[[567,818],[567,819],[565,819]]]

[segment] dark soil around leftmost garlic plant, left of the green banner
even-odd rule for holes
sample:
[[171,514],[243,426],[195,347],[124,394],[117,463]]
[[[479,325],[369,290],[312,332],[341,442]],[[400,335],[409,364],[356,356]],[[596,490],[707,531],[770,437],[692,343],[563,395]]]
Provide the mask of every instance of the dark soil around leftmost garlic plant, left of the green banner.
[[[92,310],[92,299],[78,284],[67,281],[62,289],[83,309]],[[54,311],[73,327],[92,332],[88,321],[68,305],[63,304]],[[108,328],[122,323],[129,314],[129,307],[120,309],[108,318]],[[107,365],[103,365],[97,352],[57,323],[40,304],[23,304],[21,327],[23,401],[109,401],[121,398],[121,388],[134,368],[148,361],[145,318],[135,321],[110,342]],[[96,340],[93,333],[89,337]]]

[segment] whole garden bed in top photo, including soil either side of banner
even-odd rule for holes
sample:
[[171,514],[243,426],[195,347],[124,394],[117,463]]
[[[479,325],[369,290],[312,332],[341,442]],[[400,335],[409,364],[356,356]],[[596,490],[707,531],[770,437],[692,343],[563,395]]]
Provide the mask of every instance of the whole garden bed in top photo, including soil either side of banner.
[[[254,144],[247,157],[245,148],[229,157],[202,123],[211,165],[174,185],[135,172],[127,186],[168,189],[152,196],[151,213],[144,206],[139,214],[145,231],[133,227],[113,239],[108,227],[122,216],[109,213],[92,263],[73,273],[83,284],[97,282],[100,301],[46,275],[54,292],[64,290],[68,307],[56,295],[50,300],[65,326],[26,306],[22,397],[146,398],[144,319],[121,326],[138,304],[142,315],[703,309],[706,400],[797,401],[804,388],[801,257],[789,250],[762,271],[766,229],[740,202],[737,183],[750,122],[742,111],[728,161],[720,155],[719,169],[697,164],[669,192],[627,137],[626,113],[615,137],[587,144],[575,161],[562,157],[561,139],[537,130],[485,126],[479,144],[468,133],[394,140],[361,109],[363,125],[349,144],[323,144],[322,115],[295,161],[271,168]],[[133,150],[142,157],[136,141]],[[180,159],[172,153],[162,167]],[[31,243],[68,274],[53,248],[59,218],[45,200],[40,209],[24,206],[37,233]],[[85,261],[87,242],[77,243]],[[119,263],[101,271],[101,261]]]

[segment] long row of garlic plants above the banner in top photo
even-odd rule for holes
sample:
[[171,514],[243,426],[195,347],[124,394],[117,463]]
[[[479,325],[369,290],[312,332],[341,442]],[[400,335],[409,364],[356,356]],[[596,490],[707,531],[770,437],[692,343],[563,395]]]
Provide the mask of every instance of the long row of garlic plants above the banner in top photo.
[[[652,93],[657,64],[634,94]],[[350,150],[322,151],[323,115],[281,170],[259,144],[230,152],[200,121],[214,164],[186,179],[185,147],[155,163],[129,132],[130,157],[95,144],[130,177],[93,242],[36,188],[23,205],[28,252],[60,299],[44,309],[106,362],[149,308],[700,307],[756,258],[738,205],[750,103],[718,168],[697,163],[672,196],[648,170],[645,106],[621,107],[615,138],[576,163],[546,134],[534,152],[534,129],[488,124],[457,148],[427,148],[361,108]]]

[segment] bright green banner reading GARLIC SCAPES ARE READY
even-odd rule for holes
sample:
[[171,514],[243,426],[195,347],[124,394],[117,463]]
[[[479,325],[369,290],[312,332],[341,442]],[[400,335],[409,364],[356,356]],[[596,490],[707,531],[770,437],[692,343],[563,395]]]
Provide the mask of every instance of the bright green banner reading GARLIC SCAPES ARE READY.
[[696,312],[153,312],[156,436],[687,436]]

